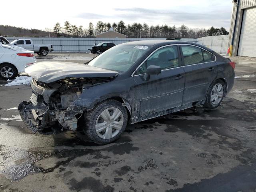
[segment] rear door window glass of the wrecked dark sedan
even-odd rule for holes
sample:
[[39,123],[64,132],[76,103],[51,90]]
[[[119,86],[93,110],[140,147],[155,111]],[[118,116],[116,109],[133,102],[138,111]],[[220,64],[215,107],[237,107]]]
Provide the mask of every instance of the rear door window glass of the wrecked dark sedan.
[[202,49],[195,46],[181,45],[181,50],[183,54],[184,65],[192,65],[204,62]]

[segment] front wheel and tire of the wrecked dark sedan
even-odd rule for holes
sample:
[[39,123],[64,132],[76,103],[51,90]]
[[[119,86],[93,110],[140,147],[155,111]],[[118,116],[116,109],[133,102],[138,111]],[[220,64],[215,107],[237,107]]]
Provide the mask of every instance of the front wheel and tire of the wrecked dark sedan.
[[106,100],[84,114],[84,133],[96,144],[108,144],[120,138],[124,132],[128,115],[122,103]]

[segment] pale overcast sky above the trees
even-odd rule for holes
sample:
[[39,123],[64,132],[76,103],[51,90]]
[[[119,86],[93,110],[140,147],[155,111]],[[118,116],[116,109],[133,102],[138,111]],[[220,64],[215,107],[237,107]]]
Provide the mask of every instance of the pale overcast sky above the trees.
[[[11,4],[10,4],[11,3]],[[88,28],[97,21],[127,25],[185,24],[189,28],[230,27],[231,0],[2,0],[0,24],[53,28],[56,22]]]

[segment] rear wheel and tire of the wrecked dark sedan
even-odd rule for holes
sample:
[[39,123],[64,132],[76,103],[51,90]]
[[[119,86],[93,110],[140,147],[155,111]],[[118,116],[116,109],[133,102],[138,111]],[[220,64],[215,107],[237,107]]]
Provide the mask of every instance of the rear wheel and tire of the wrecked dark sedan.
[[224,91],[226,90],[226,84],[220,79],[214,81],[206,94],[206,100],[204,107],[214,109],[220,105],[224,98]]

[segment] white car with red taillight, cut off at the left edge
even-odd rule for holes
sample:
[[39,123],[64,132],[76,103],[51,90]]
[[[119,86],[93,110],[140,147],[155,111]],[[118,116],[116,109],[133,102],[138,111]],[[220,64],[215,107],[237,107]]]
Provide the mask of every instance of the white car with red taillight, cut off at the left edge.
[[0,77],[13,79],[18,73],[24,72],[24,68],[36,62],[34,51],[13,46],[0,36]]

